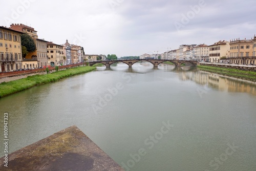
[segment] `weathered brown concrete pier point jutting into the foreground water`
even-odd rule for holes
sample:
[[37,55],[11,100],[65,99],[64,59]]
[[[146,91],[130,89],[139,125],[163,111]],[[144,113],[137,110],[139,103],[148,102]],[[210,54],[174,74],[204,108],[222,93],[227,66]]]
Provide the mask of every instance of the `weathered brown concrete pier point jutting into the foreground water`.
[[122,170],[76,126],[26,146],[8,156],[8,167],[0,159],[0,170]]

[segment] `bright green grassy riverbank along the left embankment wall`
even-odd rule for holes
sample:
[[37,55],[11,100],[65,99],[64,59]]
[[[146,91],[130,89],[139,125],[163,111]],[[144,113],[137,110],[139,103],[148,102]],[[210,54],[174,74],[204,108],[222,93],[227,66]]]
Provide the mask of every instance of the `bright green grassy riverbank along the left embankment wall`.
[[62,70],[46,75],[34,75],[27,78],[18,79],[9,82],[0,83],[0,98],[7,95],[27,90],[40,84],[55,82],[65,77],[70,77],[77,74],[87,73],[95,70],[95,67],[76,67],[67,70]]

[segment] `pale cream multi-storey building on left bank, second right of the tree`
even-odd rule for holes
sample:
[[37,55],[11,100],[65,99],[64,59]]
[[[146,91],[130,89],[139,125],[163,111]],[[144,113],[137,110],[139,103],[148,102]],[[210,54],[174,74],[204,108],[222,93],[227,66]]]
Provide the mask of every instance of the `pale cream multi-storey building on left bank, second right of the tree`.
[[60,66],[63,61],[63,46],[47,42],[47,57],[50,58],[51,66]]

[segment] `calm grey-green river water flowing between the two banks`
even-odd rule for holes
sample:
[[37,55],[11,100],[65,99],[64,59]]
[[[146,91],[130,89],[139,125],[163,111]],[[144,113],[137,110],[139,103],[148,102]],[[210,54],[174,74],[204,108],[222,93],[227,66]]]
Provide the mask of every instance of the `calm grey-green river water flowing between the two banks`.
[[255,82],[149,63],[98,67],[0,99],[10,152],[76,125],[138,171],[256,170],[255,109]]

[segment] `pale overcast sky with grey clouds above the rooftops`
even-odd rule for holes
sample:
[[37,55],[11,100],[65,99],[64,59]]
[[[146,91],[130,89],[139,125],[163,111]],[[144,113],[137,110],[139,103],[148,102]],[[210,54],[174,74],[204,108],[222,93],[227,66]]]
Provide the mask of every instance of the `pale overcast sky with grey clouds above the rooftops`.
[[22,23],[86,54],[139,56],[256,33],[255,0],[12,0],[1,7],[0,26]]

